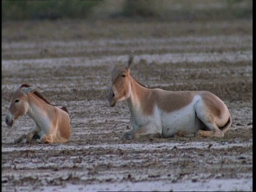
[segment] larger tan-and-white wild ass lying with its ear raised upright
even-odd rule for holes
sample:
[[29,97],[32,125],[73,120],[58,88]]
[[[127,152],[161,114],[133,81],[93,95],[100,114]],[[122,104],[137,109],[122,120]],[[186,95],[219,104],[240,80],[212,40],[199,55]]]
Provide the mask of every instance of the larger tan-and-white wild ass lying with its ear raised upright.
[[108,100],[110,106],[127,101],[132,130],[122,139],[140,137],[169,138],[223,137],[231,125],[225,103],[208,91],[164,91],[148,89],[130,73],[132,57],[127,67],[114,68]]

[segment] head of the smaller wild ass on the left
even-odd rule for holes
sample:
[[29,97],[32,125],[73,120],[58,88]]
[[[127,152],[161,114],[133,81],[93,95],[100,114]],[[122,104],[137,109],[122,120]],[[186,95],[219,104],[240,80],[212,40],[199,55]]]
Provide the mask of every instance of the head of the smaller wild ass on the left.
[[22,117],[28,112],[29,103],[27,97],[28,94],[34,91],[35,88],[28,84],[22,84],[20,88],[15,91],[12,97],[9,111],[5,117],[6,125],[12,126],[15,120]]

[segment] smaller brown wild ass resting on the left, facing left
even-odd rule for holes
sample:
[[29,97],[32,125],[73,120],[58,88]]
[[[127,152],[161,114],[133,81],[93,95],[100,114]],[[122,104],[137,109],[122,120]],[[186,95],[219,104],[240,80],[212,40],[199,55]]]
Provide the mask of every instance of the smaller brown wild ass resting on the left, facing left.
[[23,134],[14,143],[29,143],[35,136],[38,143],[64,143],[70,138],[71,126],[68,110],[51,103],[35,88],[22,84],[13,94],[5,123],[12,126],[18,118],[27,114],[35,126],[27,135]]

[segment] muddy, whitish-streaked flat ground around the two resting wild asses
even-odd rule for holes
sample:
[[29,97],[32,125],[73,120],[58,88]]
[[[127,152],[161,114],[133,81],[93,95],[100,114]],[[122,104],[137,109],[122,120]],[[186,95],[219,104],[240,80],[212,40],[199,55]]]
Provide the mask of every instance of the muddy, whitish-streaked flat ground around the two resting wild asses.
[[[129,110],[107,94],[130,53],[143,85],[225,101],[225,137],[122,141]],[[22,83],[68,108],[68,143],[14,145],[34,125],[4,123]],[[252,190],[252,124],[251,20],[2,23],[2,191]]]

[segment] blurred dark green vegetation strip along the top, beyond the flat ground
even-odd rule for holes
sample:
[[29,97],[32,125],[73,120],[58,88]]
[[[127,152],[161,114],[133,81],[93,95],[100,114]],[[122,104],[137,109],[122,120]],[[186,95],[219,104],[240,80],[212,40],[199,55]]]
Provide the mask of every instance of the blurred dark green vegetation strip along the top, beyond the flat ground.
[[251,19],[252,0],[2,1],[2,21],[55,19]]

